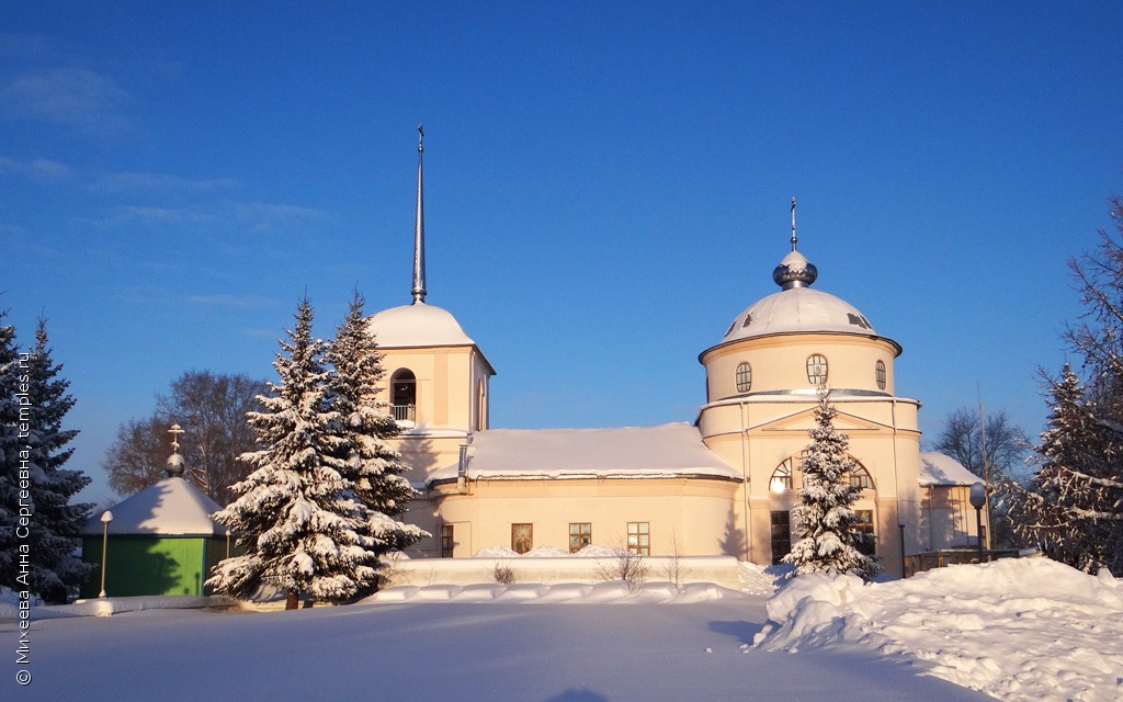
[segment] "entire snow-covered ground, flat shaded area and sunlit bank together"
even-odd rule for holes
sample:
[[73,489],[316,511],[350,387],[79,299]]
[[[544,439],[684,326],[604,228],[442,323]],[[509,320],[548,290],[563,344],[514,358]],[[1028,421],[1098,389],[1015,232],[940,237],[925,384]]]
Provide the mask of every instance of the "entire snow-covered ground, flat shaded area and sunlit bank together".
[[[987,699],[970,686],[1005,700],[1123,699],[1119,581],[1026,559],[873,585],[801,577],[767,601],[772,582],[746,566],[740,592],[430,585],[295,612],[153,609],[159,598],[110,600],[111,617],[40,608],[20,666],[33,680],[16,684],[10,654],[0,696]],[[0,611],[9,651],[12,614]]]

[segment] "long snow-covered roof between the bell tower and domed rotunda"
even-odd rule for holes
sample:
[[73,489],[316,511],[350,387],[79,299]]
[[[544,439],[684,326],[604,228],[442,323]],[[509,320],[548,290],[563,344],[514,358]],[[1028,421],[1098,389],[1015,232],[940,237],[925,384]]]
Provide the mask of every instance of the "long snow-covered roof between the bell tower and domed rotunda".
[[[456,477],[453,465],[429,482]],[[685,422],[613,429],[491,429],[469,439],[472,480],[576,477],[739,478]]]

